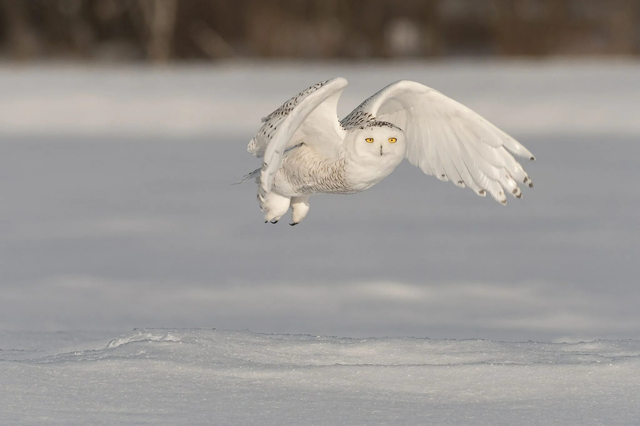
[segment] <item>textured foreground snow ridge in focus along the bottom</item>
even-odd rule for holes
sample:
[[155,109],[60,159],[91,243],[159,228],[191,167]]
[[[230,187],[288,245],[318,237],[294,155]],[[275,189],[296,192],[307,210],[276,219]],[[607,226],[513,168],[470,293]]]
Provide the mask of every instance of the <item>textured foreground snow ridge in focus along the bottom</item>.
[[[17,361],[16,361],[17,360]],[[3,425],[634,425],[640,342],[133,330],[0,352]]]

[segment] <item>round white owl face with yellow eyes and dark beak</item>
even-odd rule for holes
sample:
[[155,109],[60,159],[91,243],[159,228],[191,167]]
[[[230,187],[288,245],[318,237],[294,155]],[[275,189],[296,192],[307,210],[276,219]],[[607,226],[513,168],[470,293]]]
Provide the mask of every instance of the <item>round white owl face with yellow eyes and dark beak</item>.
[[348,153],[358,162],[400,162],[406,151],[404,132],[384,121],[371,121],[349,131]]

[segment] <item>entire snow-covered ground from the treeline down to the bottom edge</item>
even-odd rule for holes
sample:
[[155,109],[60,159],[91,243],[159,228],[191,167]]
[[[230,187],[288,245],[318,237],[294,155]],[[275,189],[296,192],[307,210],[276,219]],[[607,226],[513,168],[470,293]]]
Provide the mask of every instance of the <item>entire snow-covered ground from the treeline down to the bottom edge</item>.
[[[344,114],[398,79],[467,103],[536,155],[536,187],[504,208],[405,164],[263,224],[228,185],[257,167],[246,142],[335,75]],[[634,340],[109,342],[640,339],[638,75],[0,68],[0,424],[633,424]]]

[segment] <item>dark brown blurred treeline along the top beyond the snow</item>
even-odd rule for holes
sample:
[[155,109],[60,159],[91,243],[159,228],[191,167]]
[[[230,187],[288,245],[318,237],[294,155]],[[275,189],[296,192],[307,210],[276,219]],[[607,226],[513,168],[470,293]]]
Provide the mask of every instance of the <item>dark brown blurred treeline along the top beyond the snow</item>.
[[640,0],[0,0],[27,59],[640,54]]

